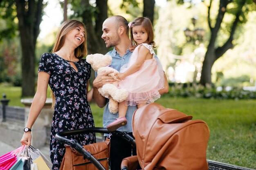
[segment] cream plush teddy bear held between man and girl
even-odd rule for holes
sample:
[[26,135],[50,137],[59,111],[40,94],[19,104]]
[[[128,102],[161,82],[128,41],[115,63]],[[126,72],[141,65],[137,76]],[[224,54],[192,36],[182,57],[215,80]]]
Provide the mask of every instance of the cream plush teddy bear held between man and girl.
[[91,64],[92,69],[97,72],[97,74],[101,74],[103,71],[110,71],[113,72],[108,74],[116,81],[113,84],[105,84],[101,88],[98,89],[99,93],[109,99],[108,109],[110,113],[117,113],[118,111],[118,103],[126,100],[128,96],[128,92],[126,89],[119,89],[117,88],[117,76],[115,73],[119,73],[109,65],[112,62],[112,57],[110,55],[103,55],[103,54],[90,54],[86,57],[86,61]]

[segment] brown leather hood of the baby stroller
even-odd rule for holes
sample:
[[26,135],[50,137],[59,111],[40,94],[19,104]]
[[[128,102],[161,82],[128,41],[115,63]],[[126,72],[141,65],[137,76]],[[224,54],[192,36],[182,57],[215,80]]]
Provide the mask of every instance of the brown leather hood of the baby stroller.
[[143,170],[208,170],[209,128],[202,120],[151,103],[135,111],[132,134]]

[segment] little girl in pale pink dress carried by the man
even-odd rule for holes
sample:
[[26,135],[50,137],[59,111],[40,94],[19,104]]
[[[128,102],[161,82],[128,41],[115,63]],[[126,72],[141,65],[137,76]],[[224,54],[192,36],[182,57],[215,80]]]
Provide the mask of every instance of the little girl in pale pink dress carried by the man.
[[137,47],[127,65],[124,65],[117,77],[121,80],[118,88],[126,89],[128,97],[118,105],[118,118],[107,126],[109,131],[115,131],[127,124],[126,111],[128,106],[143,107],[160,98],[159,90],[164,88],[164,71],[160,61],[155,57],[153,48],[154,33],[150,20],[137,17],[128,24],[130,27],[131,45]]

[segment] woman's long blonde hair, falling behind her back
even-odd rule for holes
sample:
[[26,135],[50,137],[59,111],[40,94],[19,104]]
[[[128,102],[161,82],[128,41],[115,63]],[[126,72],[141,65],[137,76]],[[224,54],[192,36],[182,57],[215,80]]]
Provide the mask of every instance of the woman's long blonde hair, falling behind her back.
[[[78,59],[81,59],[87,55],[86,28],[85,28],[85,25],[83,24],[83,22],[80,22],[78,20],[67,20],[62,23],[61,28],[59,29],[59,31],[57,33],[56,41],[55,41],[54,47],[52,49],[52,53],[57,52],[58,50],[61,49],[61,47],[63,46],[63,44],[65,42],[66,34],[69,31],[72,31],[73,29],[75,29],[77,26],[83,26],[83,28],[85,29],[85,41],[83,41],[83,43],[75,49],[74,55]],[[51,96],[52,96],[52,107],[54,108],[55,96],[54,96],[53,92],[52,92]]]

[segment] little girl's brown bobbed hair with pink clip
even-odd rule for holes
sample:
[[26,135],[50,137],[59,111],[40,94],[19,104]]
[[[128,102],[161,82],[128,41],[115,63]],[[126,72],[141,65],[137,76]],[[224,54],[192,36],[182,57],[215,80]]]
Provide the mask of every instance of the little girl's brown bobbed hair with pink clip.
[[132,34],[132,27],[133,26],[142,26],[145,28],[147,34],[148,34],[148,39],[147,43],[148,44],[153,44],[153,47],[155,48],[155,41],[154,41],[154,31],[153,31],[153,25],[151,21],[147,17],[137,17],[135,20],[131,23],[130,26],[130,42],[131,46],[135,44],[137,46],[137,42],[134,41],[133,34]]

